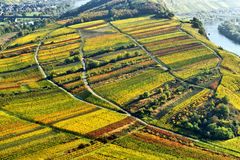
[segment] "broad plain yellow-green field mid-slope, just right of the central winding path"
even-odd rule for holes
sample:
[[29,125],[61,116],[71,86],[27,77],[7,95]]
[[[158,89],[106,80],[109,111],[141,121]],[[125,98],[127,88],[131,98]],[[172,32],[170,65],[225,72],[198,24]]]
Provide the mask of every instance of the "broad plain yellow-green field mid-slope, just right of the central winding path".
[[163,73],[160,70],[151,69],[129,79],[108,83],[94,89],[107,99],[124,105],[144,92],[151,91],[173,79],[174,78],[166,72]]

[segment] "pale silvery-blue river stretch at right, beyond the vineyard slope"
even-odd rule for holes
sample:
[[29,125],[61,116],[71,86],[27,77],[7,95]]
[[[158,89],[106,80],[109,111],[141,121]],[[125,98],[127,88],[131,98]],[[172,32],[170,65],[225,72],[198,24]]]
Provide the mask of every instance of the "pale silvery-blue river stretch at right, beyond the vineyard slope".
[[234,43],[232,40],[221,35],[218,31],[218,24],[205,24],[205,29],[207,34],[209,34],[209,39],[225,50],[228,50],[240,56],[240,44]]

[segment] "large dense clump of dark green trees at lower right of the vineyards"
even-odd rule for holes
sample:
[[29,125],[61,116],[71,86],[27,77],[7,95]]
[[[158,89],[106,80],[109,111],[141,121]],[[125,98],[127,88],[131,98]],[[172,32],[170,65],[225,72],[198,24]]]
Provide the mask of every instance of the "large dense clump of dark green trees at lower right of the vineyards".
[[213,96],[197,108],[189,105],[172,118],[172,123],[214,140],[234,138],[239,134],[239,111],[221,102]]

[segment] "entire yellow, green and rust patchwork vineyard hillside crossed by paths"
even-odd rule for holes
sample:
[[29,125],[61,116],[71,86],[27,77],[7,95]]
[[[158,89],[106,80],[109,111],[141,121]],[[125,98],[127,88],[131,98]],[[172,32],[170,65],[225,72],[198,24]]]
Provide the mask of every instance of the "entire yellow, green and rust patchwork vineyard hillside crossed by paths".
[[239,71],[194,29],[57,23],[0,51],[0,159],[240,157]]

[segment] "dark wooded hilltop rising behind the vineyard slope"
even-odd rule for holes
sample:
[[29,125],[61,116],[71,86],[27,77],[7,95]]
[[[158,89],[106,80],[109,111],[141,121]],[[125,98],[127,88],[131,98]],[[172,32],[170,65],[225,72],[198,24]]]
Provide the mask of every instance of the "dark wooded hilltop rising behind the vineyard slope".
[[63,14],[61,18],[79,16],[84,20],[118,19],[146,14],[162,14],[166,17],[170,13],[162,0],[92,0]]

